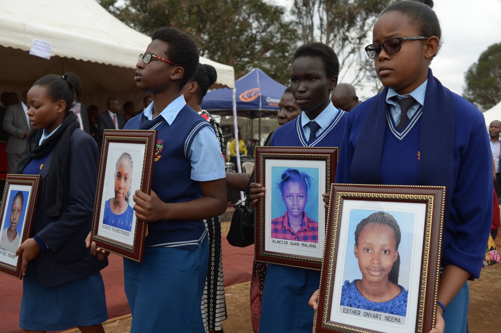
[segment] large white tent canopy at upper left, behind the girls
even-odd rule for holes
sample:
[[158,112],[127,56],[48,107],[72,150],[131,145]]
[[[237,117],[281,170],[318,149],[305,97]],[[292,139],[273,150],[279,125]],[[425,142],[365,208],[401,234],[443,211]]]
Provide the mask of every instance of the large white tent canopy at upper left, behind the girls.
[[[52,44],[50,60],[29,55],[34,39]],[[0,0],[0,90],[20,91],[43,75],[75,72],[88,105],[110,96],[139,103],[145,93],[136,88],[134,70],[150,42],[95,0]],[[200,63],[215,67],[217,86],[234,87],[233,67]]]

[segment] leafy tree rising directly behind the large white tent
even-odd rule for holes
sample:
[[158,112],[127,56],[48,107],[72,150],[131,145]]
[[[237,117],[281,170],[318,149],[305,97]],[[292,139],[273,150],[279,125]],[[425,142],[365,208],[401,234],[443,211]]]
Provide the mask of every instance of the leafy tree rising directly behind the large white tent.
[[298,31],[284,19],[285,9],[262,0],[98,0],[130,27],[151,35],[170,26],[190,35],[200,55],[234,67],[240,77],[260,67],[275,80],[289,82]]

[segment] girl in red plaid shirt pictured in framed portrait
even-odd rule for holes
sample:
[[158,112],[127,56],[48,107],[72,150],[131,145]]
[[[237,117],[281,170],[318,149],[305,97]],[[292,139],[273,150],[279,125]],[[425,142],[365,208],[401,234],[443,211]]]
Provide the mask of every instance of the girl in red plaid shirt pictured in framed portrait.
[[306,172],[289,168],[281,178],[277,187],[287,211],[272,220],[272,238],[318,243],[318,222],[305,213],[312,177]]

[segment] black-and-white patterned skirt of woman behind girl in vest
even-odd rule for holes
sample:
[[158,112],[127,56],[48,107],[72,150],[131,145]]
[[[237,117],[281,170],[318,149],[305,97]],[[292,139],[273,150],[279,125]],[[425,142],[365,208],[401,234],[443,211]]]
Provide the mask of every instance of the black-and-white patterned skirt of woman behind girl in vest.
[[228,317],[222,277],[221,220],[204,220],[209,234],[207,280],[202,298],[202,318],[205,331],[222,329],[221,321]]

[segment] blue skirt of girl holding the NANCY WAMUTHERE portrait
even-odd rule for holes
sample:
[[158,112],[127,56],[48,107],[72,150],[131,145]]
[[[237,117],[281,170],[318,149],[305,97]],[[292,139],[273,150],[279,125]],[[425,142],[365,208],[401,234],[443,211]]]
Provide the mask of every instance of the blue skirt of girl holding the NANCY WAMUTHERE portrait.
[[143,262],[124,258],[131,333],[205,333],[200,305],[208,252],[205,239],[193,251],[145,247]]

